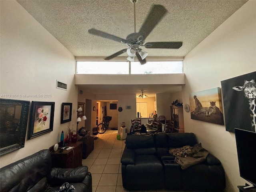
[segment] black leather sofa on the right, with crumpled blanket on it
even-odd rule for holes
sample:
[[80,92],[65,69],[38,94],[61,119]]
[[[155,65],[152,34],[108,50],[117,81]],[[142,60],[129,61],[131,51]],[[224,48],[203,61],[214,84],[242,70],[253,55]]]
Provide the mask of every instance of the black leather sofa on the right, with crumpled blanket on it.
[[212,154],[199,164],[182,169],[169,149],[197,144],[193,133],[134,134],[126,138],[122,154],[122,183],[127,190],[218,191],[225,188],[225,173]]

